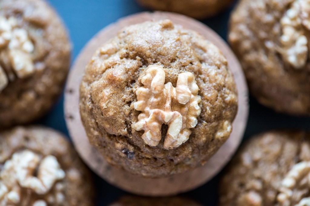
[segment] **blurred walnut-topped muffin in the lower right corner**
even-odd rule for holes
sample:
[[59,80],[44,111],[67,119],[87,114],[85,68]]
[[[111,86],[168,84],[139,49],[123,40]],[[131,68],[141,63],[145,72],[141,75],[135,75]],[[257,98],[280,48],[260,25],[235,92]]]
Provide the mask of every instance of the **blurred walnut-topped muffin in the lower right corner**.
[[309,205],[310,134],[259,134],[230,163],[220,184],[219,205]]

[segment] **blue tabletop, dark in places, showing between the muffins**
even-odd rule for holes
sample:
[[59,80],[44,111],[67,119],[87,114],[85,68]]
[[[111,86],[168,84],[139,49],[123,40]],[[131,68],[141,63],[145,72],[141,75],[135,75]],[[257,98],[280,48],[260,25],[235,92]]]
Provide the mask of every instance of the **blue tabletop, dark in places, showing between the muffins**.
[[[69,30],[73,43],[73,60],[88,40],[108,24],[127,15],[148,11],[139,6],[134,0],[50,0],[50,4],[54,6]],[[202,22],[226,40],[228,19],[234,6],[232,5],[215,17],[204,19]],[[62,95],[51,111],[36,123],[55,128],[69,136],[64,121],[63,100]],[[243,142],[254,134],[276,128],[303,128],[309,130],[310,118],[292,117],[276,113],[250,97],[250,116]],[[220,172],[208,183],[193,191],[180,194],[180,196],[188,197],[202,205],[216,205],[218,183],[222,174],[223,172]],[[93,174],[93,176],[97,191],[96,205],[108,205],[121,196],[128,195],[125,191],[106,183],[96,174]]]

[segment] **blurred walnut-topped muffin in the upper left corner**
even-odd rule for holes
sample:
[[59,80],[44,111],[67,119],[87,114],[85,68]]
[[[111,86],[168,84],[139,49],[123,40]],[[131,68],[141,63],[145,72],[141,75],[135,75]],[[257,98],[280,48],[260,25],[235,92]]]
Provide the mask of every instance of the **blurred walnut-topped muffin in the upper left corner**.
[[71,45],[43,0],[0,1],[0,128],[46,113],[63,89]]

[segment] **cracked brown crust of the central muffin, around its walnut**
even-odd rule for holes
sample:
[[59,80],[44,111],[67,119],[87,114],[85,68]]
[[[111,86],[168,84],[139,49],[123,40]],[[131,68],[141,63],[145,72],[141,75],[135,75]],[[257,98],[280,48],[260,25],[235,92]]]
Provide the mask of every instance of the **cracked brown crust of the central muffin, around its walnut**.
[[[160,67],[164,83],[194,75],[201,113],[186,142],[165,149],[167,125],[157,146],[137,131],[141,111],[136,92],[149,66]],[[215,45],[170,20],[125,27],[102,45],[86,66],[80,85],[80,114],[86,134],[110,164],[132,174],[160,177],[203,165],[227,140],[237,112],[237,89],[227,60]]]

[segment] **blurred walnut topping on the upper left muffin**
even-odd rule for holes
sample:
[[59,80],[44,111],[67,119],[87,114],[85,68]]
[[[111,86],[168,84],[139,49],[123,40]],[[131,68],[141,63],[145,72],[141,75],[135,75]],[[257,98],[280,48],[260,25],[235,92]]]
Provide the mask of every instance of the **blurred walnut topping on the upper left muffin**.
[[[19,28],[17,19],[0,16],[0,52],[7,53],[11,67],[18,78],[26,78],[34,73],[32,53],[34,50],[27,31]],[[0,71],[0,91],[7,85]],[[2,78],[1,78],[2,77]]]

